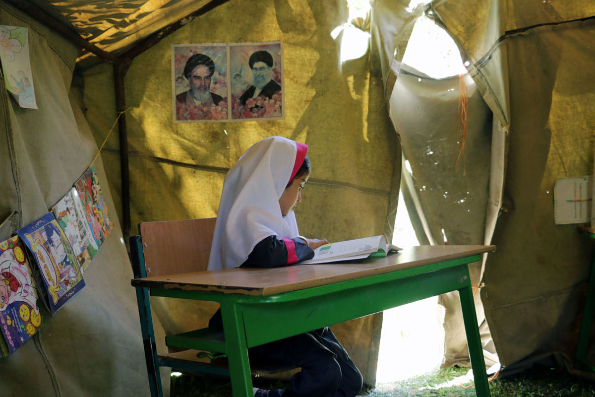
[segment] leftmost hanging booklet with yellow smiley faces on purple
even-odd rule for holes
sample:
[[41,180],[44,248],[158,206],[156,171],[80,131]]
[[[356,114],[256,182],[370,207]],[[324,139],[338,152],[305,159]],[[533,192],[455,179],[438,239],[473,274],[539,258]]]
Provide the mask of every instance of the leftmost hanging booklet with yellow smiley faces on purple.
[[0,243],[0,329],[14,353],[43,325],[37,290],[18,236]]

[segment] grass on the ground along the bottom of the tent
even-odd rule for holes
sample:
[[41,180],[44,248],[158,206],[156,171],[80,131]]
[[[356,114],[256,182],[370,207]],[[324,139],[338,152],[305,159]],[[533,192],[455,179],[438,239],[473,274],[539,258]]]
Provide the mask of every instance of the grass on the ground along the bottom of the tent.
[[[469,368],[452,367],[376,387],[364,386],[365,397],[475,397],[472,381],[456,380]],[[453,382],[454,380],[454,382]],[[255,387],[284,389],[289,382],[254,378]],[[437,387],[446,385],[446,387]],[[451,385],[452,384],[452,385]],[[536,366],[531,370],[490,382],[491,397],[595,397],[595,383],[562,373],[555,368]],[[228,378],[206,375],[171,377],[171,397],[231,397]],[[314,396],[313,396],[314,397]]]

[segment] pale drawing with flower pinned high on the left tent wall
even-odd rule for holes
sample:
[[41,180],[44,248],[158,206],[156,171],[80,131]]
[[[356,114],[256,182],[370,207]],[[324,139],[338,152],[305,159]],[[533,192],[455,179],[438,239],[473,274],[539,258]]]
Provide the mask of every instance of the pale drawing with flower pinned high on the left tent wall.
[[8,91],[21,108],[37,109],[29,61],[29,29],[0,25],[0,48],[0,61]]

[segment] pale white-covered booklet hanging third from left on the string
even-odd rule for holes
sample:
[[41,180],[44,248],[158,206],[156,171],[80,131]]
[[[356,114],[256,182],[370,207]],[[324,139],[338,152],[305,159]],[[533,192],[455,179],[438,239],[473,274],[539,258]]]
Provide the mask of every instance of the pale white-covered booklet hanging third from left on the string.
[[79,193],[72,188],[56,205],[52,212],[58,224],[64,230],[73,248],[74,255],[79,260],[80,267],[87,269],[92,258],[95,257],[99,246],[93,237],[93,232],[87,223]]

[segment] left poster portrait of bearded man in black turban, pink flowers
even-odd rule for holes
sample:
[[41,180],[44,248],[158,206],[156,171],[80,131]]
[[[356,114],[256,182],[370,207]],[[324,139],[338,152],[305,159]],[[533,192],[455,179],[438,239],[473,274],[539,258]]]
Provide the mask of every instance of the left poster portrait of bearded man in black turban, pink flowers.
[[174,120],[227,120],[227,47],[173,45]]

